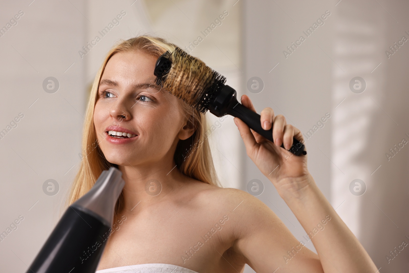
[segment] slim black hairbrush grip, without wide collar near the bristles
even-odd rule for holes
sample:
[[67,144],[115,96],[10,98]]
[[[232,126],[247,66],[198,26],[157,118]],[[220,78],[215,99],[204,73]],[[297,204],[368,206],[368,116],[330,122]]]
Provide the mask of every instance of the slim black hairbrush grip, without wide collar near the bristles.
[[[270,128],[269,130],[264,130],[263,127],[261,127],[261,116],[256,112],[253,112],[249,108],[243,106],[243,104],[237,102],[235,106],[227,108],[227,114],[238,117],[240,120],[243,120],[243,122],[247,124],[247,126],[249,126],[251,129],[267,138],[271,142],[274,142],[273,129]],[[284,144],[281,144],[281,147],[284,148]],[[292,147],[289,151],[294,153],[296,156],[307,153],[306,151],[304,151],[304,145],[295,138],[292,138]]]

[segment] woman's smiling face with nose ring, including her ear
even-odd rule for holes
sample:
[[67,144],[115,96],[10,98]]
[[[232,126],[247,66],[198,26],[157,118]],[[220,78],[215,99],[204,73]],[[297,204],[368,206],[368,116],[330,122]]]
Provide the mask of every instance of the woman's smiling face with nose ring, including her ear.
[[[156,59],[140,51],[121,52],[106,64],[94,108],[94,127],[108,162],[151,167],[171,162],[178,140],[193,134],[185,126],[179,99],[154,83]],[[111,136],[111,131],[127,134]]]

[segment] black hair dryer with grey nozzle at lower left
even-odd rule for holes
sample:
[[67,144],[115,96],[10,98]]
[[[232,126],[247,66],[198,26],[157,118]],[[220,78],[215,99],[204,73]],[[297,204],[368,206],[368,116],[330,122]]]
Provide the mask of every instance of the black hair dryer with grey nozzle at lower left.
[[67,208],[26,272],[94,273],[124,185],[119,169],[102,171],[91,190]]

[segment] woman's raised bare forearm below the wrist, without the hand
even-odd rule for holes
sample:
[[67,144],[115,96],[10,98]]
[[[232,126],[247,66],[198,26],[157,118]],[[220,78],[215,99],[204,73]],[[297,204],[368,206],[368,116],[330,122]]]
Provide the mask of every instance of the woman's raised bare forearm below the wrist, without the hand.
[[[335,212],[312,176],[308,175],[306,181],[297,181],[294,178],[286,181],[288,185],[297,185],[299,182],[306,186],[297,192],[283,191],[279,194],[311,238],[324,272],[378,271],[371,257]],[[321,227],[324,229],[320,230]]]

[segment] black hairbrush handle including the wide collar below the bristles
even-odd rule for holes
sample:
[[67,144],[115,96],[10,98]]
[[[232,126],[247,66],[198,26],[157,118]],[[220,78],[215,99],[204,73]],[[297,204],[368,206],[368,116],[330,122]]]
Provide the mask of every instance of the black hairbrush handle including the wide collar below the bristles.
[[[222,88],[220,93],[217,95],[216,99],[209,106],[210,113],[221,117],[226,114],[238,117],[240,120],[243,120],[247,126],[251,129],[265,137],[266,139],[273,141],[273,129],[264,130],[261,127],[261,116],[253,112],[249,108],[243,106],[237,101],[236,90],[226,85]],[[294,153],[296,156],[301,156],[307,154],[307,151],[304,151],[305,146],[301,144],[295,138],[292,139],[292,147],[288,150],[291,153]],[[284,148],[284,144],[281,144],[281,147]],[[284,148],[285,149],[285,148]]]

